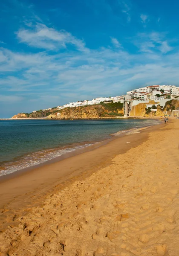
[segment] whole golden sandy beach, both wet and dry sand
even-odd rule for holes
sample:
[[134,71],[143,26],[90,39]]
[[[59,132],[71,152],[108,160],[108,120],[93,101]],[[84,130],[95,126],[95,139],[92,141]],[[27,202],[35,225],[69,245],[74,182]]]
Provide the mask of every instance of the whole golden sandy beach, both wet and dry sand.
[[179,119],[2,180],[0,198],[0,256],[178,256]]

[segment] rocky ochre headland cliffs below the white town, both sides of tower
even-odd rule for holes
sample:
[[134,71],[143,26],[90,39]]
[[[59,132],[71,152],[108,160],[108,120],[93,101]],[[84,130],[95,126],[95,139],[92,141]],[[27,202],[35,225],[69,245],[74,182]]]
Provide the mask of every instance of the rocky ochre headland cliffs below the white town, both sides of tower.
[[[179,108],[178,100],[169,100],[165,106],[157,105],[150,100],[149,103],[139,103],[131,108],[130,116],[155,117],[164,116],[165,113],[171,114],[171,111]],[[153,105],[153,106],[151,106]],[[51,110],[39,110],[32,113],[18,113],[12,116],[15,118],[43,118],[46,119],[102,119],[124,116],[123,103],[101,103],[96,105],[80,106],[75,108],[52,108]]]

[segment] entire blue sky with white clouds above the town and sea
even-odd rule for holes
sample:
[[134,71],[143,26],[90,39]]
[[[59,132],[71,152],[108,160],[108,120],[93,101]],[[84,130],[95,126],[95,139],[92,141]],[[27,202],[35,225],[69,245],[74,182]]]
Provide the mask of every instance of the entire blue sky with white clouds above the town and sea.
[[179,86],[179,1],[1,0],[0,117]]

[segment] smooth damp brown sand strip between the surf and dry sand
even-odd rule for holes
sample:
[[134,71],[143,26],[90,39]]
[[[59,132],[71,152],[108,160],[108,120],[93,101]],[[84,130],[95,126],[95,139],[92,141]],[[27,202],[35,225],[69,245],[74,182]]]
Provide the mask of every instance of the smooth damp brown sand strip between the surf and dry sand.
[[26,214],[25,209],[28,207],[38,206],[50,193],[108,166],[116,155],[124,154],[130,148],[140,145],[147,140],[151,131],[163,126],[159,124],[129,131],[99,142],[98,145],[91,145],[86,148],[87,151],[79,150],[75,155],[67,154],[60,161],[49,160],[49,164],[41,164],[38,168],[5,175],[0,180],[0,209],[1,212],[5,211],[0,216],[0,224],[6,229],[12,222],[9,216],[17,212],[18,215]]

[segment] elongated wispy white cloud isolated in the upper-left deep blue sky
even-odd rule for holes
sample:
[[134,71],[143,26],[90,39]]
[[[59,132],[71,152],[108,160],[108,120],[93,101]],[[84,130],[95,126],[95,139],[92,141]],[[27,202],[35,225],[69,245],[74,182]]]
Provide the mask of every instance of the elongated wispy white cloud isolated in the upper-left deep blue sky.
[[83,40],[75,38],[75,36],[65,30],[57,31],[41,23],[38,23],[35,29],[20,29],[17,32],[17,38],[21,43],[47,50],[66,48],[66,45],[71,44],[81,52],[89,51],[85,47]]

